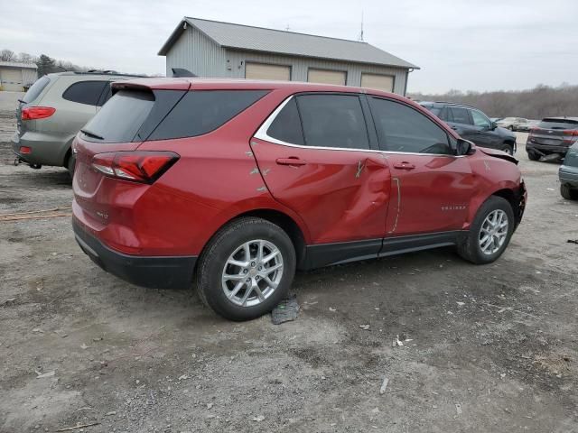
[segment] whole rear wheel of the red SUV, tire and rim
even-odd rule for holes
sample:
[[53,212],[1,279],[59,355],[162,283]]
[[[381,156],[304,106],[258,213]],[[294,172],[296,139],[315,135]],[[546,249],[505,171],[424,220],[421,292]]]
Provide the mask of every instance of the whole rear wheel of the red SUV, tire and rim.
[[258,318],[284,299],[295,263],[294,245],[281,227],[242,217],[221,228],[200,255],[197,290],[223,318]]

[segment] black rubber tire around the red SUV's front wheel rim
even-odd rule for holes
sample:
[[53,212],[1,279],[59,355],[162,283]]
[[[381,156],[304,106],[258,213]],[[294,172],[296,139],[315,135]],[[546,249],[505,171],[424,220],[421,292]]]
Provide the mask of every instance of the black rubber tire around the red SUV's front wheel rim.
[[[506,235],[506,240],[504,241],[504,244],[500,246],[498,251],[492,254],[486,254],[482,252],[480,247],[479,236],[481,225],[491,212],[498,209],[503,210],[508,217],[508,235]],[[465,235],[461,243],[457,245],[458,253],[463,259],[471,263],[492,263],[496,261],[508,247],[509,240],[514,233],[514,225],[514,211],[512,210],[508,200],[498,196],[491,196],[480,206],[480,209],[471,224],[469,233]]]

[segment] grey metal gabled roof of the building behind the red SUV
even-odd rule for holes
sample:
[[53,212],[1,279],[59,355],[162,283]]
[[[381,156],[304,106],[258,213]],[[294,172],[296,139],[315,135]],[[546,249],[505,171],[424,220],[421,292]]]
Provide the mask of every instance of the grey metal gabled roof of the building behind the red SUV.
[[250,25],[222,23],[219,21],[201,20],[200,18],[184,17],[164,42],[159,55],[165,56],[172,44],[184,31],[187,23],[206,34],[221,47],[236,50],[264,51],[290,56],[312,57],[371,63],[397,68],[419,69],[412,63],[400,59],[367,42],[349,41],[346,39],[328,38],[313,34],[286,32],[281,30],[253,27]]

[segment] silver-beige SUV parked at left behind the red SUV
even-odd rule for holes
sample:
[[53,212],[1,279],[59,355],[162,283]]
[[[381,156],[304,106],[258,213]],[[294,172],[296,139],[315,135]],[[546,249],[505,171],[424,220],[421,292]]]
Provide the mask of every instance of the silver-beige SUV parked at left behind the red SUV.
[[135,77],[98,71],[59,72],[39,78],[16,107],[14,163],[23,162],[33,169],[65,167],[72,176],[72,140],[111,97],[110,83]]

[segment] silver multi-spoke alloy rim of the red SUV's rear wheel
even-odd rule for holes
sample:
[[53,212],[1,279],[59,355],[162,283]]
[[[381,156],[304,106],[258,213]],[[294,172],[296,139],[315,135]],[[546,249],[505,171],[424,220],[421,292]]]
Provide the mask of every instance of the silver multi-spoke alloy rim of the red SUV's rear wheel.
[[248,241],[229,255],[221,286],[225,296],[241,307],[253,307],[269,298],[283,278],[283,255],[264,239]]

